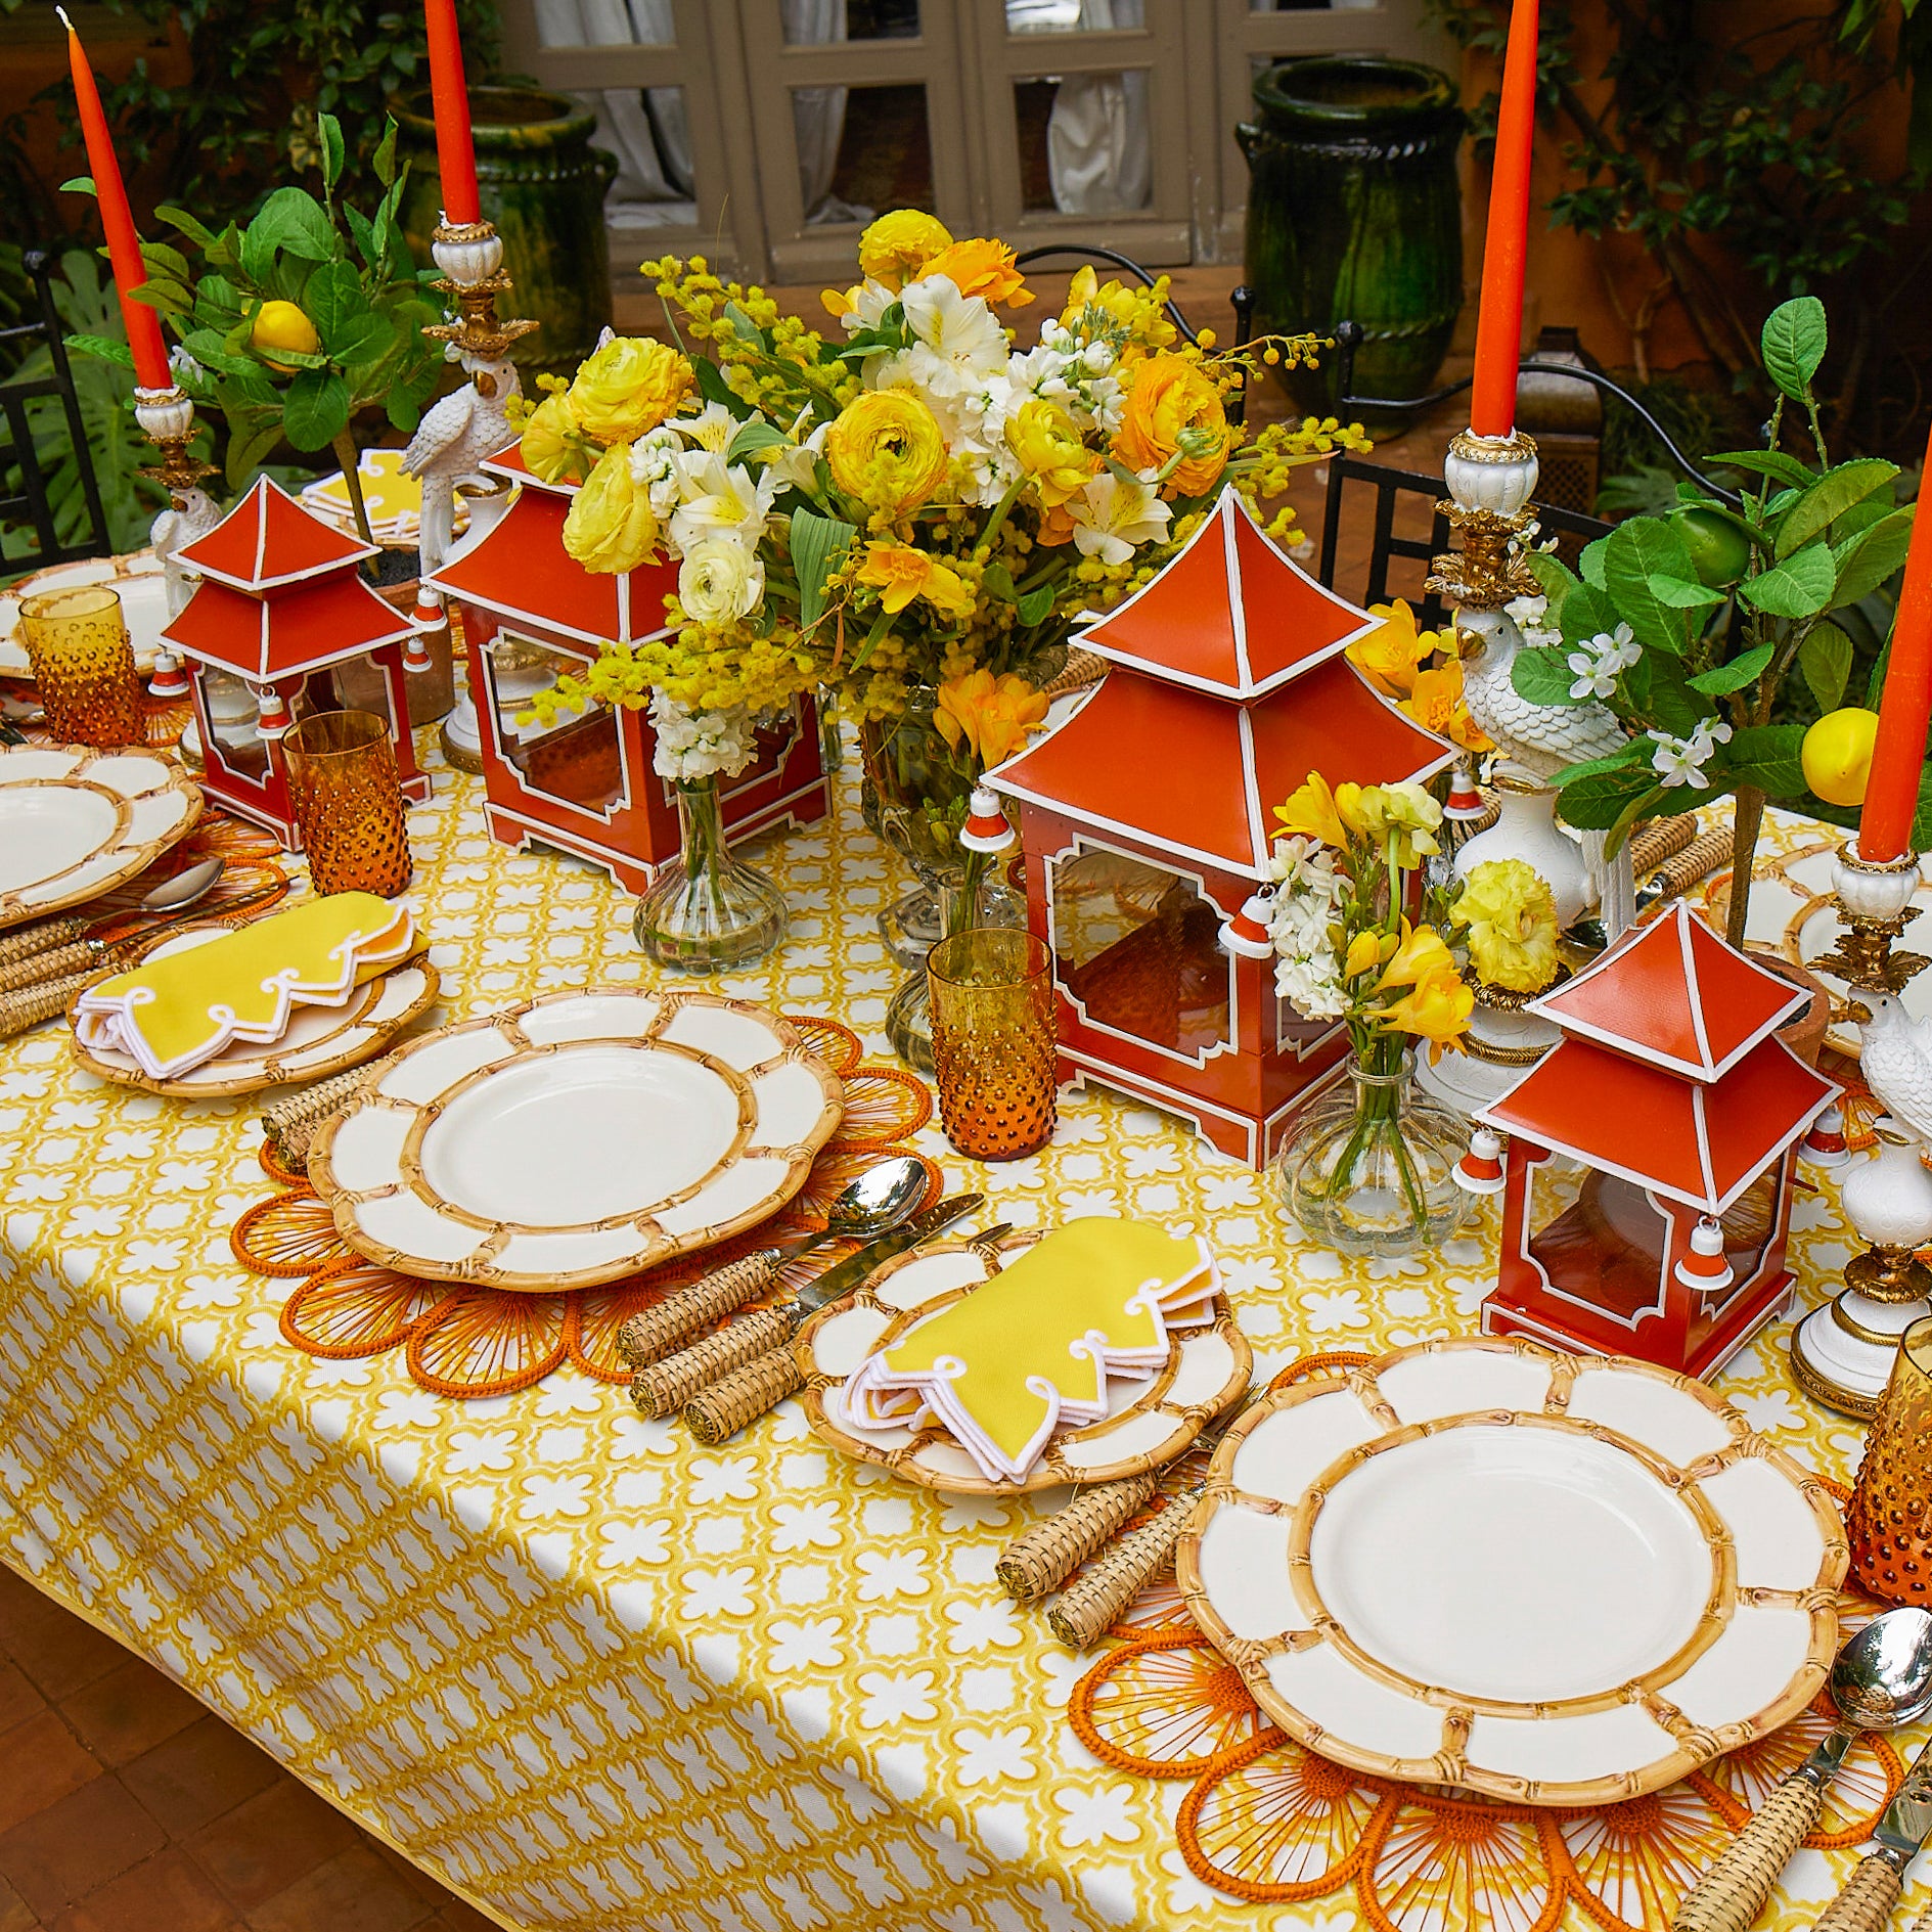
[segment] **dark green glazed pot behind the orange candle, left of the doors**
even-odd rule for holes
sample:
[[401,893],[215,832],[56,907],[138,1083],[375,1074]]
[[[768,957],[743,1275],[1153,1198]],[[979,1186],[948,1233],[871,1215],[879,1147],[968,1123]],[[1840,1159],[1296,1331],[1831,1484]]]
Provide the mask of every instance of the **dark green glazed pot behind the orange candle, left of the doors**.
[[[429,238],[442,213],[437,126],[429,97],[398,110],[400,147],[410,160],[402,230],[427,269]],[[512,354],[524,369],[570,373],[611,325],[611,259],[603,197],[616,156],[591,147],[597,116],[537,87],[471,87],[477,199],[502,236],[502,265],[516,284],[498,315],[527,315],[543,327]]]

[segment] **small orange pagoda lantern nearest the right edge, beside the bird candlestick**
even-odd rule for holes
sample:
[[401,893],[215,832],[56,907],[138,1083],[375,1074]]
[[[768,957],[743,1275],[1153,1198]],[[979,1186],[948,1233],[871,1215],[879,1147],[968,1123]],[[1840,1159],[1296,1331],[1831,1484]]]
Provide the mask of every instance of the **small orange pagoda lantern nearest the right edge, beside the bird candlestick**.
[[1837,1099],[1774,1037],[1806,999],[1679,902],[1530,1001],[1563,1039],[1478,1115],[1509,1136],[1486,1333],[1710,1376],[1779,1312],[1795,1150]]

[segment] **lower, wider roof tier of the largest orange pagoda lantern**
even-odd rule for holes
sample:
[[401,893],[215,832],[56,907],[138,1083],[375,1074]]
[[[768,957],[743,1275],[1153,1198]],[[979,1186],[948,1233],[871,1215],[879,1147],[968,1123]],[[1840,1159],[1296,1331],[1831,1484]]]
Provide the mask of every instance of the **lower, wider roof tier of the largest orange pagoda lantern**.
[[1455,755],[1347,659],[1329,657],[1252,703],[1111,670],[1057,730],[987,773],[987,784],[1262,879],[1273,808],[1310,771],[1331,784],[1389,784],[1424,779]]

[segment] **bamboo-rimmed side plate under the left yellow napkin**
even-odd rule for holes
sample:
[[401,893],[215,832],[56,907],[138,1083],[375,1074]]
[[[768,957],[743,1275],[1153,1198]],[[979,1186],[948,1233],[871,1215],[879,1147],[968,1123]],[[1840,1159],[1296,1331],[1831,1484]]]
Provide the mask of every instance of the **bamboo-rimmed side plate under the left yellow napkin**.
[[[187,952],[230,931],[234,925],[222,920],[176,927],[141,958]],[[131,1053],[114,1047],[83,1047],[79,1039],[70,1039],[68,1045],[77,1065],[114,1086],[178,1099],[214,1099],[224,1094],[259,1094],[292,1080],[327,1080],[330,1074],[361,1066],[435,1003],[437,968],[427,958],[412,958],[355,987],[340,1007],[296,1007],[288,1030],[274,1045],[238,1039],[214,1059],[189,1066],[172,1080],[155,1080]]]

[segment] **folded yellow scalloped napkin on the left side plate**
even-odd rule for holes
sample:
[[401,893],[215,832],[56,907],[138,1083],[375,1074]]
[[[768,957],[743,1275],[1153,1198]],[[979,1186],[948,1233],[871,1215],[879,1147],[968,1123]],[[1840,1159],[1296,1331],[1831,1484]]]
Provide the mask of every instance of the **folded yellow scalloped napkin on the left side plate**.
[[373,893],[307,898],[102,980],[79,997],[73,1030],[81,1045],[128,1053],[170,1080],[232,1039],[270,1045],[296,1007],[340,1007],[413,943],[408,908]]

